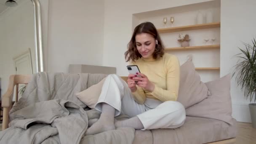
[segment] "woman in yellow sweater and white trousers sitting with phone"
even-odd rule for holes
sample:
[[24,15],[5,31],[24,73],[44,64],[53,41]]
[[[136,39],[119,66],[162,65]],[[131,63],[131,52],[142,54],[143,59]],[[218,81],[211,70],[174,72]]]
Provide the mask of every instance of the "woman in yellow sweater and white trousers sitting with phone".
[[[185,109],[176,101],[179,60],[164,52],[160,35],[152,23],[144,22],[134,29],[125,59],[137,65],[142,73],[128,75],[127,84],[117,75],[108,75],[95,105],[101,116],[86,134],[119,127],[150,130],[183,125]],[[121,113],[131,118],[115,121],[114,117]]]

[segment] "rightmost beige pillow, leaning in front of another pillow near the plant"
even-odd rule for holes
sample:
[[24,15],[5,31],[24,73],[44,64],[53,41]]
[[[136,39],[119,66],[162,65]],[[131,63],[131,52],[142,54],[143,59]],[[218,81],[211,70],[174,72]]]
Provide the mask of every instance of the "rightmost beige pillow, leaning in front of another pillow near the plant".
[[211,96],[187,108],[186,114],[193,117],[222,120],[232,125],[230,74],[205,84],[211,92]]

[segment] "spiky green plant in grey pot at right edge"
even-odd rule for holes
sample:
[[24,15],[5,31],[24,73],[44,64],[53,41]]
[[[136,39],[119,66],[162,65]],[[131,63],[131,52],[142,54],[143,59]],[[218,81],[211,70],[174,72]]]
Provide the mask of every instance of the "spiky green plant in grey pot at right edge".
[[250,99],[254,104],[249,104],[251,113],[251,120],[253,128],[256,128],[256,40],[253,38],[253,45],[243,43],[245,49],[239,48],[241,53],[237,54],[236,57],[240,58],[235,65],[233,71],[237,85],[241,85],[244,90],[244,96],[246,99]]

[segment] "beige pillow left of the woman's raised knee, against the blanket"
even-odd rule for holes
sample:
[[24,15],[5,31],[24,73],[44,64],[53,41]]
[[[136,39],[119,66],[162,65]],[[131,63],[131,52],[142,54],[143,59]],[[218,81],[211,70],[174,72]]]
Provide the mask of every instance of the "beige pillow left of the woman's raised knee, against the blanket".
[[82,101],[88,107],[94,109],[94,106],[99,99],[99,95],[101,94],[101,88],[105,80],[106,77],[99,83],[90,86],[86,90],[76,93],[75,96],[77,96],[77,98],[80,99],[80,101]]

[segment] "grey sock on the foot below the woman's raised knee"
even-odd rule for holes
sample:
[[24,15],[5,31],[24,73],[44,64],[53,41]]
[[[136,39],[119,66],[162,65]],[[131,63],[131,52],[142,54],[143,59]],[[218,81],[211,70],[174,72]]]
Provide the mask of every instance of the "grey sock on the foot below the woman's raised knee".
[[85,134],[97,134],[104,131],[114,130],[114,117],[115,108],[106,103],[102,103],[102,112],[99,120],[88,128]]

